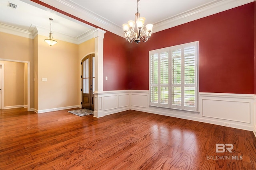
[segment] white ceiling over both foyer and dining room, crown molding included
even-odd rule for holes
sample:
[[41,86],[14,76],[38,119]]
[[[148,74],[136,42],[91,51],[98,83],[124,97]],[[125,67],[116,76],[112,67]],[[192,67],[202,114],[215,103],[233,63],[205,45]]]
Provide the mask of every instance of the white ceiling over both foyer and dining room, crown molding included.
[[[137,11],[136,0],[40,1],[122,37],[122,24],[134,20]],[[17,8],[8,7],[8,2]],[[146,18],[145,24],[154,25],[154,33],[250,2],[253,0],[140,0],[138,10]],[[0,31],[18,31],[33,38],[36,27],[36,33],[48,36],[49,18],[53,19],[55,39],[79,44],[91,38],[88,35],[95,29],[30,0],[0,0]]]

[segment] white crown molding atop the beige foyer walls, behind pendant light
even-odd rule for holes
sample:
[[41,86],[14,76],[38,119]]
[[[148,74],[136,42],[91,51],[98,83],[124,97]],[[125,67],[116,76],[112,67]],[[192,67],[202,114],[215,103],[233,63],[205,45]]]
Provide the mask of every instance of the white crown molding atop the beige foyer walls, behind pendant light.
[[[94,30],[95,29],[90,29],[90,31],[87,31],[82,35],[79,35],[78,37],[71,37],[62,33],[54,32],[54,37],[58,37],[58,40],[61,40],[61,41],[66,41],[69,43],[79,45],[85,41],[88,41],[89,39],[94,38]],[[43,27],[40,27],[38,25],[33,25],[33,24],[30,26],[28,30],[25,30],[25,29],[20,29],[18,27],[13,27],[10,25],[0,23],[0,32],[9,33],[12,35],[17,35],[17,36],[25,37],[29,39],[34,39],[36,35],[43,35],[46,37],[49,36],[48,29],[44,29]]]

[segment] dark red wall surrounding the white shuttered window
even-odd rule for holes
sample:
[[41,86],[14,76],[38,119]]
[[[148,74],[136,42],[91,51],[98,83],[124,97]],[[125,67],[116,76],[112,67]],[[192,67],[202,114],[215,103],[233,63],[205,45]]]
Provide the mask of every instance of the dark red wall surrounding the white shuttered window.
[[254,94],[253,2],[130,45],[130,89],[149,88],[148,51],[192,41],[199,41],[199,92]]

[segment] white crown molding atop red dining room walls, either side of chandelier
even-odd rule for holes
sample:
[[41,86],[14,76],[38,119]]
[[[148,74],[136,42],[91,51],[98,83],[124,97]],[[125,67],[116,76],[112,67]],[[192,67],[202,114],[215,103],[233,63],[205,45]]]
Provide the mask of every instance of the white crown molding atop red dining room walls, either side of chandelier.
[[[65,11],[69,14],[72,14],[82,20],[88,21],[94,25],[97,25],[103,29],[106,29],[116,35],[124,37],[124,33],[121,25],[116,25],[113,22],[106,20],[105,18],[94,14],[93,12],[83,8],[82,6],[76,4],[74,1],[70,0],[41,0],[42,2],[54,6],[62,11]],[[154,24],[153,33],[158,31],[162,31],[164,29],[168,29],[171,27],[175,27],[177,25],[181,25],[190,21],[198,20],[200,18],[204,18],[206,16],[210,16],[225,10],[229,10],[244,4],[248,4],[253,2],[254,0],[214,0],[200,6],[198,8],[194,8],[193,10],[178,14],[172,18],[167,18],[166,20],[158,21]]]

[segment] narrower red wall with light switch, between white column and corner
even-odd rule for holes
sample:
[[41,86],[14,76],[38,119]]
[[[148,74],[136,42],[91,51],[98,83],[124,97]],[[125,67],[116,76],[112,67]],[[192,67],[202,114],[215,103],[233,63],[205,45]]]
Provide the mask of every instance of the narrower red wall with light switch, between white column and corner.
[[[111,32],[104,34],[103,90],[129,89],[130,61],[126,52],[126,40]],[[108,76],[108,80],[106,80]]]

